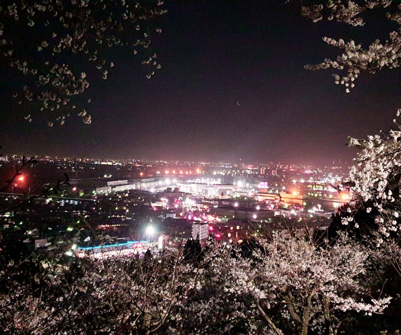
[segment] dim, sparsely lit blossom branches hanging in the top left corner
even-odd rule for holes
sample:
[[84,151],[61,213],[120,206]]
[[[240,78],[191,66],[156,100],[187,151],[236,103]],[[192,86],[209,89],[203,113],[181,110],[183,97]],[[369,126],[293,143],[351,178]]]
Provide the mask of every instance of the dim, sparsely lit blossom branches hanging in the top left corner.
[[25,103],[37,110],[25,119],[63,125],[77,108],[83,122],[91,123],[80,96],[96,71],[107,79],[114,66],[111,49],[132,55],[142,49],[146,77],[152,77],[161,68],[150,36],[162,32],[154,26],[166,12],[162,5],[160,0],[2,1],[0,58],[24,76],[21,91],[13,95],[19,108]]

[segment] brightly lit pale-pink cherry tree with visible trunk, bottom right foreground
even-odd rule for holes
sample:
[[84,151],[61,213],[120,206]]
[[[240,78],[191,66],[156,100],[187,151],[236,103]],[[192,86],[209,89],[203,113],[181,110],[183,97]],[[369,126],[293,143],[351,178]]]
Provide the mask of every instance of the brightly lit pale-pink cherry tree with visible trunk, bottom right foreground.
[[196,304],[189,306],[194,315],[202,315],[197,320],[201,327],[191,333],[203,333],[205,327],[207,334],[213,313],[230,327],[239,322],[252,329],[249,334],[287,333],[280,326],[283,319],[302,334],[335,334],[346,312],[382,313],[391,301],[372,296],[366,285],[369,250],[344,235],[336,243],[318,244],[307,235],[275,233],[273,240],[256,243],[251,258],[236,248],[211,246],[198,277]]

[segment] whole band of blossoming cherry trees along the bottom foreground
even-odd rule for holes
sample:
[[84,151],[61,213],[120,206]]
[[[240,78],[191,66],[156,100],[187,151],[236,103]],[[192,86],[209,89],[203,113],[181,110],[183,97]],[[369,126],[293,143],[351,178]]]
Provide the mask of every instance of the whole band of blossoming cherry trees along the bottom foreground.
[[[4,331],[144,334],[334,335],[349,311],[382,313],[391,298],[369,288],[370,251],[341,235],[308,234],[240,246],[210,242],[194,264],[161,257],[9,261],[0,288]],[[89,255],[88,255],[89,256]],[[29,271],[33,271],[30,276]],[[369,272],[371,273],[371,272]],[[284,326],[285,325],[285,326]]]

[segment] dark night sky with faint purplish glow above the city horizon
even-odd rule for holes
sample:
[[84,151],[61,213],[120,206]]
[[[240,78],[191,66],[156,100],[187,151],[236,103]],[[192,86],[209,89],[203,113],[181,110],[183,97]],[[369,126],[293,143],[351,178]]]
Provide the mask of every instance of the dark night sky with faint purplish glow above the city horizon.
[[[386,129],[401,107],[401,72],[364,73],[351,93],[330,70],[308,71],[339,51],[321,38],[365,46],[397,28],[383,16],[354,28],[312,23],[283,1],[165,1],[152,44],[162,69],[115,55],[107,81],[91,83],[91,125],[70,117],[27,123],[0,70],[0,145],[5,153],[101,158],[350,163],[347,136]],[[237,104],[237,101],[240,105]]]

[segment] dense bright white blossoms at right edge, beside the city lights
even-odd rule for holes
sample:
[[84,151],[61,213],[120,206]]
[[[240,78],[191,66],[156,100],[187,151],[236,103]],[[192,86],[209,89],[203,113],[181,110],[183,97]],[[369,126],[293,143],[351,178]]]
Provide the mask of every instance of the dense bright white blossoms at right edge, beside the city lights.
[[[374,221],[377,225],[377,244],[389,238],[391,232],[399,234],[400,176],[401,176],[401,110],[393,119],[394,127],[389,132],[381,131],[367,139],[349,139],[349,145],[359,149],[355,165],[350,167],[346,182],[352,183],[349,215],[342,218],[342,224],[354,220],[357,210],[370,213],[375,209]],[[356,222],[358,224],[358,222]],[[356,228],[358,228],[356,226]]]

